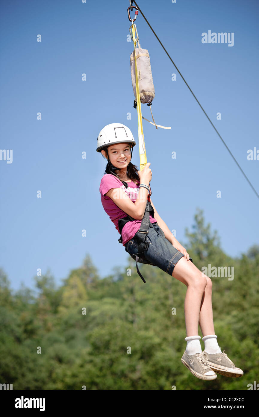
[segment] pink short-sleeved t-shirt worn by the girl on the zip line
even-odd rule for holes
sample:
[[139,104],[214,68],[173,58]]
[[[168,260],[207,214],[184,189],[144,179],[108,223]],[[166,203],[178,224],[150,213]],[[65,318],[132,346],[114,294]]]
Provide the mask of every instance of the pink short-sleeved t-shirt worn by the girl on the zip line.
[[[110,197],[105,196],[105,193],[107,193],[111,188],[122,188],[122,190],[125,191],[127,196],[134,203],[139,193],[139,181],[138,181],[138,184],[135,184],[133,181],[130,181],[127,184],[128,184],[128,188],[126,188],[123,185],[122,181],[120,181],[119,178],[115,177],[112,174],[106,174],[106,173],[102,177],[101,183],[100,183],[100,193],[101,193],[101,201],[102,201],[103,208],[105,209],[106,213],[110,217],[112,223],[115,224],[115,227],[119,233],[120,233],[120,229],[118,226],[118,221],[119,219],[122,219],[122,217],[126,217],[127,213],[125,213],[125,211],[122,211]],[[149,219],[151,223],[155,223],[157,221],[150,214],[149,214]],[[135,233],[139,230],[141,226],[141,221],[142,220],[132,220],[132,221],[128,221],[125,224],[125,226],[122,229],[122,245],[123,246],[125,246],[127,241],[129,241],[129,239],[132,239]]]

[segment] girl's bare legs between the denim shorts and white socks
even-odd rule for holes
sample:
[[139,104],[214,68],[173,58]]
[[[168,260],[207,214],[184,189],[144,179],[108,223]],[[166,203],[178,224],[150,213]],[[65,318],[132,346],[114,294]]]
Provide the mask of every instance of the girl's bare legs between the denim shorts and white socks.
[[212,313],[212,281],[184,256],[174,266],[172,276],[187,286],[184,300],[184,315],[187,336],[214,333]]

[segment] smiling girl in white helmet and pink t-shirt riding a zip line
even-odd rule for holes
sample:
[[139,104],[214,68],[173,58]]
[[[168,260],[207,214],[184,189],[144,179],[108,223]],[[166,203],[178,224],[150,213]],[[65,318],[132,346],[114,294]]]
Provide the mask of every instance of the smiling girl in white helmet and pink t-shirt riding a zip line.
[[[136,236],[146,210],[152,179],[150,163],[142,171],[137,171],[137,166],[131,163],[135,144],[131,131],[121,123],[105,126],[97,138],[97,152],[101,152],[108,161],[100,183],[102,205],[119,233],[119,219],[127,216],[132,219],[122,228],[122,244],[133,257],[139,253]],[[215,372],[228,377],[241,377],[242,369],[235,367],[217,343],[211,279],[190,262],[186,249],[161,219],[151,198],[150,203],[154,216],[149,213],[148,234],[144,235],[149,244],[145,246],[144,258],[147,263],[158,266],[187,286],[184,301],[187,347],[182,363],[199,379],[216,379]],[[203,334],[204,352],[199,342],[198,324]]]

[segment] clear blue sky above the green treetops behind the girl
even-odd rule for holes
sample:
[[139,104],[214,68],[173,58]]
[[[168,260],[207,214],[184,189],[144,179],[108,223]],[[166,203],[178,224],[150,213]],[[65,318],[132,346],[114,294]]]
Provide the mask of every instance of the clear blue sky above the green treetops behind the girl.
[[[137,3],[259,193],[259,161],[247,160],[259,149],[258,2]],[[87,254],[101,277],[127,264],[101,204],[106,163],[96,147],[100,130],[115,122],[138,141],[128,7],[126,0],[1,3],[0,148],[12,149],[12,163],[0,161],[0,266],[13,289],[32,287],[38,268],[60,285]],[[135,23],[150,55],[154,119],[172,127],[143,120],[154,206],[182,244],[202,208],[224,251],[240,256],[259,243],[259,199],[140,12]],[[234,33],[234,45],[202,43],[209,30]],[[142,116],[152,120],[144,104]],[[139,166],[138,146],[132,162]]]

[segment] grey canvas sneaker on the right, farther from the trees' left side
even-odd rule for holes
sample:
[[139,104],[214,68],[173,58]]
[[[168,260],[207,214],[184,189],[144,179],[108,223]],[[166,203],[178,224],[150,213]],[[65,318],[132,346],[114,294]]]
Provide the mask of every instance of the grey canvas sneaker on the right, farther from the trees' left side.
[[240,368],[236,368],[235,364],[227,357],[227,354],[224,353],[214,353],[209,354],[203,352],[208,356],[208,365],[218,374],[224,375],[225,377],[242,377],[244,372]]

